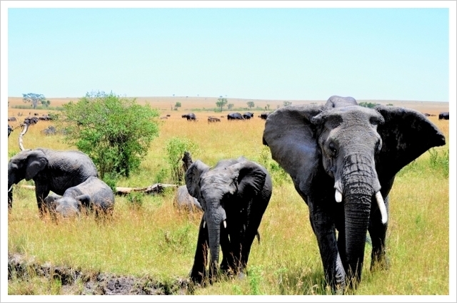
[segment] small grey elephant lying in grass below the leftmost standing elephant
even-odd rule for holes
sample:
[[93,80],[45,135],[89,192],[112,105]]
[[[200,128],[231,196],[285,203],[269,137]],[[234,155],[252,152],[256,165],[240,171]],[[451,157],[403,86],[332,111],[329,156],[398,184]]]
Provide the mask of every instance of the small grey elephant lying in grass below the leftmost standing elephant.
[[111,215],[114,208],[114,192],[106,183],[91,177],[83,183],[65,190],[64,195],[49,195],[44,199],[46,210],[51,215],[74,217],[82,210],[96,216]]

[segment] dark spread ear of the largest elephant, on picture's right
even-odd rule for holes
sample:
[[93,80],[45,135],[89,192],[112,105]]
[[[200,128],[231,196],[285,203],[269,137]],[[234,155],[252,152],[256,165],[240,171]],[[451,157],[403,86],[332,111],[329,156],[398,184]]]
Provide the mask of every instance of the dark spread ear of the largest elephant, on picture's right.
[[418,111],[393,106],[375,109],[384,117],[384,123],[378,125],[382,148],[376,157],[376,170],[380,178],[393,178],[426,150],[446,144],[443,133]]

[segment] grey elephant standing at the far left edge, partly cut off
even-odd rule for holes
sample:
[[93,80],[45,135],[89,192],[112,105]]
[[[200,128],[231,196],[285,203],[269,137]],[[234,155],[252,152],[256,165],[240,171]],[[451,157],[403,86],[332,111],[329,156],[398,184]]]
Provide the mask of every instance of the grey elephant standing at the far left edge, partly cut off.
[[98,175],[91,158],[79,150],[23,150],[8,163],[9,210],[13,207],[12,186],[21,180],[34,180],[36,202],[42,215],[43,200],[50,191],[64,195],[68,188]]

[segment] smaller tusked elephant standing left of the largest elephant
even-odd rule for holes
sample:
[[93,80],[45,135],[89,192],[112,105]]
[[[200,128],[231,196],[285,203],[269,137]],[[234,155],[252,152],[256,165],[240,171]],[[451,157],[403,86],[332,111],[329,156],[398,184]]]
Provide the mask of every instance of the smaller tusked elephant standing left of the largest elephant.
[[[191,269],[191,280],[212,283],[220,269],[241,274],[246,269],[254,237],[271,197],[271,178],[265,168],[246,158],[220,160],[214,168],[197,160],[186,172],[189,194],[199,200],[204,215]],[[209,276],[206,265],[209,248]]]

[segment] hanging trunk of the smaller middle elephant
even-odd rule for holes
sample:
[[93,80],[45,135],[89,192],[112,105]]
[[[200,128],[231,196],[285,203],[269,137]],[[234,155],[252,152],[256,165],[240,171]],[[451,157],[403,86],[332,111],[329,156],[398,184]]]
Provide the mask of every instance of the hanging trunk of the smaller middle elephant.
[[208,227],[209,236],[209,280],[213,282],[217,278],[219,268],[219,245],[221,244],[221,225],[226,226],[226,212],[219,205],[216,209],[211,208],[205,212],[205,221]]

